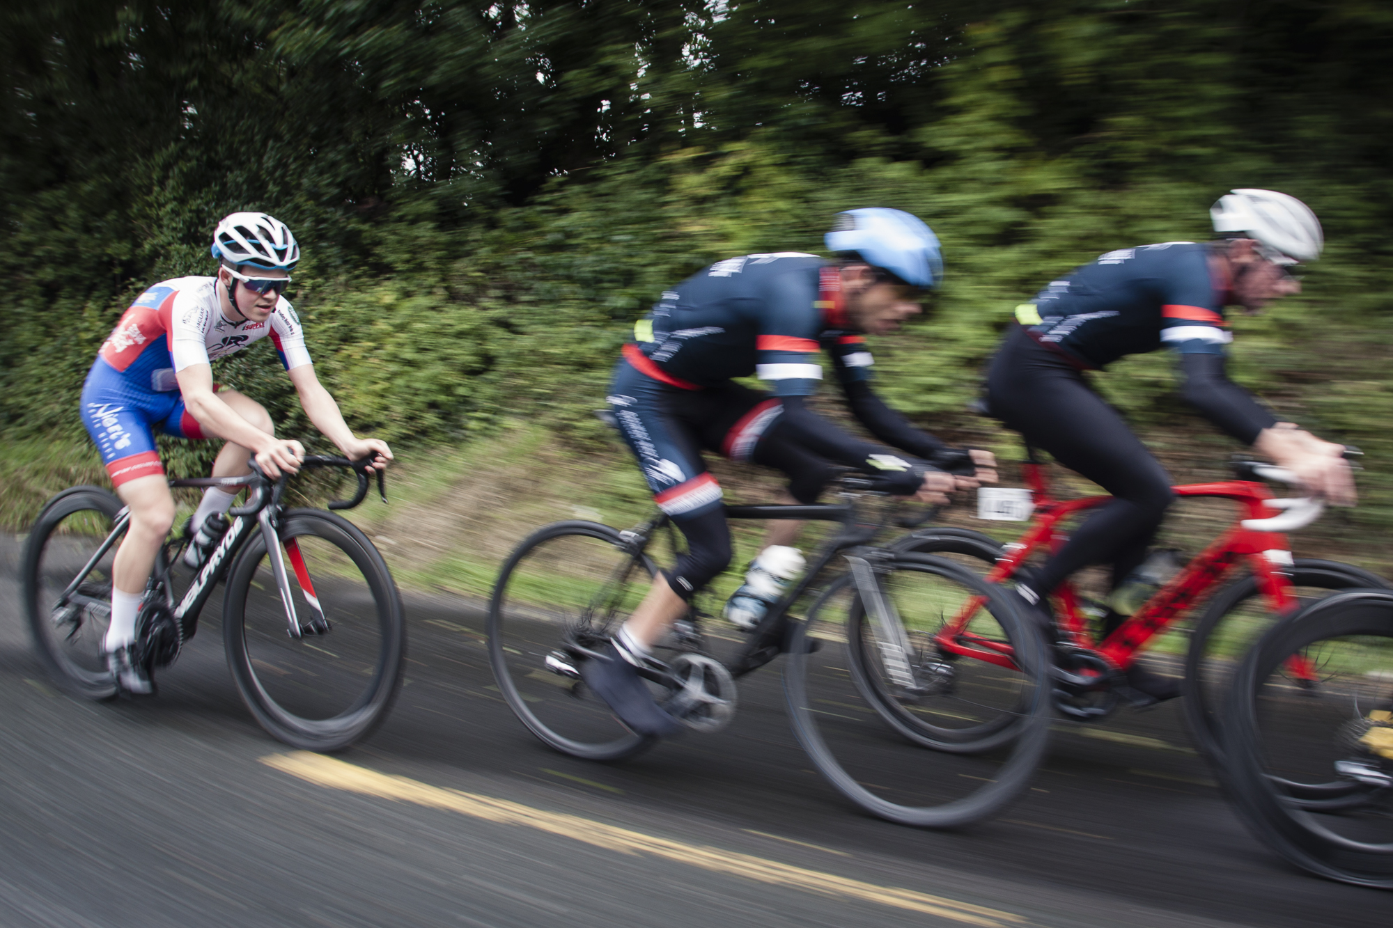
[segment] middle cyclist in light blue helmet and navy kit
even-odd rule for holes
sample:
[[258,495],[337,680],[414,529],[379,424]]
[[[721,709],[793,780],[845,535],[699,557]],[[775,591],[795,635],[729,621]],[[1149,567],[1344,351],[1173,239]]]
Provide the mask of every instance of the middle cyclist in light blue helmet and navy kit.
[[[676,730],[635,666],[731,557],[722,489],[702,450],[784,471],[790,503],[816,500],[833,464],[894,474],[905,496],[925,500],[976,485],[935,467],[950,449],[911,426],[869,385],[864,336],[896,332],[921,311],[919,300],[942,276],[937,238],[910,213],[854,209],[837,216],[826,244],[836,254],[830,265],[798,252],[716,262],[664,293],[624,346],[607,401],[655,500],[688,548],[657,575],[603,655],[582,665],[591,688],[635,732]],[[830,355],[857,419],[885,444],[858,439],[808,408],[822,379],[819,348]],[[772,389],[733,382],[749,375]],[[981,478],[995,479],[989,453],[972,451],[972,458]],[[777,599],[780,578],[801,569],[790,548],[797,531],[797,523],[779,523],[769,532],[747,585],[727,605],[736,624],[758,624]]]

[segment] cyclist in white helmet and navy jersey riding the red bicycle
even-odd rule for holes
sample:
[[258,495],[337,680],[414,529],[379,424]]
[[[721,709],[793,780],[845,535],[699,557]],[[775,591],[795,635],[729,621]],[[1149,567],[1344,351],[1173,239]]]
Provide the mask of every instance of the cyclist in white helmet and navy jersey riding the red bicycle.
[[[1116,587],[1137,569],[1174,499],[1170,475],[1084,378],[1124,355],[1176,351],[1181,394],[1205,418],[1295,472],[1309,492],[1354,502],[1344,449],[1277,422],[1224,372],[1233,340],[1224,307],[1254,314],[1300,293],[1289,268],[1319,256],[1321,223],[1301,201],[1268,190],[1234,190],[1211,216],[1216,241],[1110,251],[1050,281],[1017,307],[1020,325],[992,362],[990,412],[1114,496],[1020,587],[1042,621],[1049,594],[1075,570],[1110,564]],[[1109,612],[1105,631],[1121,620]],[[1138,702],[1178,695],[1176,681],[1135,665],[1128,681]]]

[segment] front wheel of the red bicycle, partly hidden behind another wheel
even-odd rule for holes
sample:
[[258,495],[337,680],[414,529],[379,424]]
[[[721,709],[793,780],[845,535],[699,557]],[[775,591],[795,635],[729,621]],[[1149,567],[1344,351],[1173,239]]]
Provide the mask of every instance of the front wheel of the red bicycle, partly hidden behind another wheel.
[[[1355,587],[1387,587],[1387,581],[1378,574],[1369,573],[1353,564],[1336,560],[1318,560],[1298,557],[1291,564],[1293,587],[1311,587],[1315,589],[1351,589]],[[1276,621],[1275,616],[1266,616],[1258,628],[1240,628],[1240,620],[1234,616],[1244,603],[1259,598],[1258,578],[1252,574],[1240,577],[1220,589],[1205,606],[1199,620],[1195,621],[1190,633],[1190,647],[1185,649],[1185,673],[1181,684],[1184,693],[1184,712],[1188,723],[1190,737],[1195,747],[1211,762],[1222,765],[1223,745],[1219,737],[1219,713],[1223,709],[1227,681],[1231,679],[1237,662],[1248,648],[1255,644],[1262,634]],[[1220,626],[1226,626],[1227,635],[1222,635]],[[1234,647],[1229,638],[1240,631],[1245,631],[1243,641]],[[1238,655],[1238,660],[1223,662],[1211,658],[1211,648],[1224,648]]]

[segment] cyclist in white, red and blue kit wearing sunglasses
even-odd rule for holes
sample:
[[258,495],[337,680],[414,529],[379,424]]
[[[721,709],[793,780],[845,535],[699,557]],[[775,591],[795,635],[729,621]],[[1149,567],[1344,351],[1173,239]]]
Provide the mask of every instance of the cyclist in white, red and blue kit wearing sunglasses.
[[[213,477],[251,472],[251,456],[267,475],[279,477],[298,470],[305,454],[299,442],[274,436],[259,403],[213,383],[212,361],[269,337],[315,428],[350,458],[373,454],[379,468],[391,458],[384,442],[354,436],[315,376],[299,318],[281,297],[299,261],[290,229],[266,213],[233,213],[217,224],[212,254],[220,263],[216,276],[164,280],[131,304],[82,386],[82,422],[131,510],[113,564],[104,645],[107,667],[132,694],[155,690],[146,655],[137,654],[137,621],[155,556],[174,521],[155,433],[223,439]],[[235,492],[208,489],[187,531],[198,532],[234,497]],[[185,562],[196,567],[198,559],[198,546],[189,545]]]

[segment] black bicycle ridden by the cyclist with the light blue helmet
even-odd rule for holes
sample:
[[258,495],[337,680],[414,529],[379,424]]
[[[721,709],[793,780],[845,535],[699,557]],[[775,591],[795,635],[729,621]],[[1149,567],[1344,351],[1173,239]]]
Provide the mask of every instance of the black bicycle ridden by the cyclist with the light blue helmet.
[[[894,506],[878,507],[873,478],[847,477],[841,488],[840,504],[727,506],[730,518],[840,527],[752,633],[709,621],[698,598],[659,648],[662,660],[641,673],[687,727],[715,732],[736,713],[736,679],[787,654],[794,733],[841,794],[907,825],[986,818],[1028,787],[1046,747],[1043,640],[1009,591],[964,566],[872,545]],[[660,513],[630,531],[563,521],[504,563],[489,605],[490,662],[511,709],[552,748],[616,761],[653,744],[620,725],[579,666],[646,592],[656,573],[649,550],[664,538],[677,545]],[[807,617],[795,619],[790,610],[805,598]],[[1015,666],[956,660],[932,644],[968,602],[979,603],[974,640],[1011,649]]]

